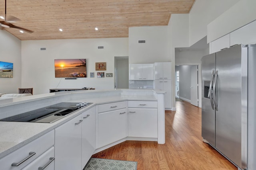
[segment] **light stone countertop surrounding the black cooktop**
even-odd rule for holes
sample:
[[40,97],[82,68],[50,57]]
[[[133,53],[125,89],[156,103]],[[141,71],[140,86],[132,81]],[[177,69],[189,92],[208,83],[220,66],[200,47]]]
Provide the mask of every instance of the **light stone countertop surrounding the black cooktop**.
[[[110,92],[111,90],[106,90],[106,92]],[[156,92],[156,91],[155,91]],[[58,92],[59,93],[59,92]],[[48,98],[49,96],[56,95],[68,95],[69,93],[60,93],[60,94],[48,94],[42,95],[43,97]],[[79,92],[73,92],[79,93]],[[164,94],[164,91],[156,92]],[[36,95],[35,95],[36,96]],[[28,96],[30,97],[30,96]],[[32,98],[31,100],[35,101],[36,98]],[[0,158],[6,156],[7,154],[13,152],[14,150],[26,145],[27,143],[37,139],[38,137],[44,135],[45,133],[51,131],[52,129],[58,127],[59,125],[65,123],[66,121],[76,117],[87,109],[94,107],[98,104],[106,104],[111,102],[121,102],[127,100],[146,100],[146,101],[157,101],[156,97],[152,95],[119,95],[119,96],[104,96],[101,98],[85,98],[85,99],[73,99],[66,102],[92,102],[93,104],[85,107],[84,109],[80,109],[75,111],[71,115],[68,115],[54,123],[35,123],[35,122],[5,122],[0,121]],[[18,99],[18,103],[25,103],[23,100]],[[22,128],[20,128],[22,127]]]

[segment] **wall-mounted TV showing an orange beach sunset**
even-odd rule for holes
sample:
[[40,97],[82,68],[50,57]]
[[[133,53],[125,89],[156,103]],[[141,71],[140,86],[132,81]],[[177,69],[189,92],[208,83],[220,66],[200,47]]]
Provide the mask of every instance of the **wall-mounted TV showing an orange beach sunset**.
[[55,77],[86,77],[86,59],[55,59]]

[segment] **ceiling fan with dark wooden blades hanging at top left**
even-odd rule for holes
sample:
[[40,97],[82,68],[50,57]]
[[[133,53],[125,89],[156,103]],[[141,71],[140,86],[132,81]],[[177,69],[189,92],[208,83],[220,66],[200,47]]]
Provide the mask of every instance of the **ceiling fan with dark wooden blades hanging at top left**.
[[14,17],[14,16],[8,17],[8,20],[7,20],[7,18],[6,18],[6,0],[5,0],[5,16],[4,16],[4,18],[3,17],[0,17],[0,18],[4,19],[4,21],[0,21],[0,29],[16,28],[16,29],[20,29],[20,31],[25,31],[27,33],[33,33],[34,32],[34,31],[29,30],[29,29],[25,29],[25,28],[13,25],[12,24],[13,22],[20,21],[20,19]]

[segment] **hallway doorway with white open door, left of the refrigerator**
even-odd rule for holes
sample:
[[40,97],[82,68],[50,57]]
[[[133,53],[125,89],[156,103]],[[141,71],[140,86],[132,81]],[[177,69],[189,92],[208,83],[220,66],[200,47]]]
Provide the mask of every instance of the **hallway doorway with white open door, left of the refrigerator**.
[[198,65],[175,66],[176,98],[198,107]]

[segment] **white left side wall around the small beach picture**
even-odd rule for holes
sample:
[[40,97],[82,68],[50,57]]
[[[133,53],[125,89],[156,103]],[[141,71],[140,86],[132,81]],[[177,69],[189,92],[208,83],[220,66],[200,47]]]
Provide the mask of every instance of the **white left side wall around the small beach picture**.
[[0,30],[0,61],[13,63],[13,78],[0,78],[0,93],[18,93],[21,88],[21,41]]

